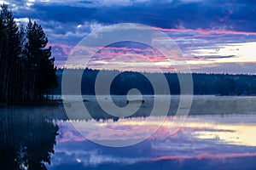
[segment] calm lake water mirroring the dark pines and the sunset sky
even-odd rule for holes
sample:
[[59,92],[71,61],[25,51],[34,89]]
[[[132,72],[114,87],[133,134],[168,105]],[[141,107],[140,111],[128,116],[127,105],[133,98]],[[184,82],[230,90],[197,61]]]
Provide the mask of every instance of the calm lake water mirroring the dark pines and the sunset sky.
[[256,114],[189,116],[171,134],[173,118],[143,142],[113,148],[80,132],[98,142],[131,141],[161,117],[95,122],[68,120],[57,107],[1,109],[0,169],[256,169]]

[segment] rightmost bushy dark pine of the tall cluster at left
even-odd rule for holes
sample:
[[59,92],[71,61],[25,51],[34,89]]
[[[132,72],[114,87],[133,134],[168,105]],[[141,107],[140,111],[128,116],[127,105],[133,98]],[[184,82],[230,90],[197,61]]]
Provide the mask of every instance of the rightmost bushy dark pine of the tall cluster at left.
[[28,100],[42,100],[43,94],[56,85],[54,58],[51,58],[51,48],[46,48],[48,38],[42,26],[29,20],[26,26],[26,59],[32,79],[27,84]]

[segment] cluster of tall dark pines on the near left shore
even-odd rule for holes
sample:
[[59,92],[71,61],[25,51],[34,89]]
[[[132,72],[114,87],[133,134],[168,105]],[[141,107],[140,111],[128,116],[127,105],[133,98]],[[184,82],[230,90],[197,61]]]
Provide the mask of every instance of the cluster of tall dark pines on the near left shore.
[[57,85],[55,58],[42,26],[15,22],[8,5],[0,14],[0,104],[34,103]]

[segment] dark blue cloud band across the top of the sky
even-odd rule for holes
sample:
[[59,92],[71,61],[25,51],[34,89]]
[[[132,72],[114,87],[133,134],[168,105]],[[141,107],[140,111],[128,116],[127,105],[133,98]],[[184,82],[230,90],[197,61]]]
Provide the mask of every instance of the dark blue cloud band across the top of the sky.
[[[23,3],[22,3],[23,2]],[[20,1],[19,5],[25,5]],[[54,1],[53,1],[54,2]],[[117,1],[118,2],[118,1]],[[155,3],[135,3],[131,5],[109,5],[102,3],[76,6],[75,3],[34,3],[26,12],[15,11],[18,17],[38,18],[38,20],[55,20],[61,23],[79,24],[84,21],[97,21],[103,24],[121,22],[137,22],[149,26],[175,28],[184,26],[197,29],[230,29],[239,31],[255,31],[255,1],[186,1],[174,0],[172,3],[162,1]],[[78,4],[80,4],[79,1]],[[119,5],[118,5],[119,4]],[[225,6],[224,4],[229,4]],[[233,4],[233,5],[232,5]],[[98,6],[97,6],[98,5]],[[20,14],[19,14],[20,13]]]

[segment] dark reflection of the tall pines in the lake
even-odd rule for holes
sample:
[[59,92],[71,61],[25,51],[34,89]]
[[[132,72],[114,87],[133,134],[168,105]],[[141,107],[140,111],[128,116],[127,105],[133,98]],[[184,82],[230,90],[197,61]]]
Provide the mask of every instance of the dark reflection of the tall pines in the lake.
[[0,169],[46,169],[59,127],[42,109],[0,111]]

